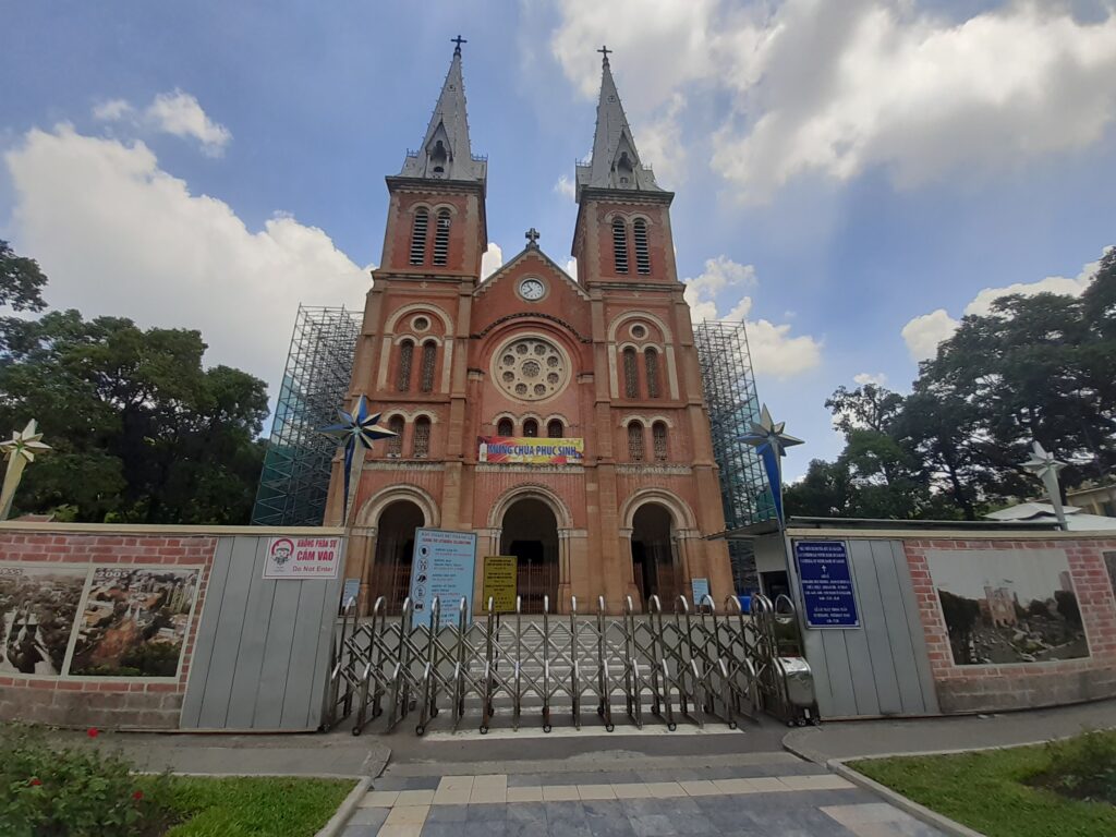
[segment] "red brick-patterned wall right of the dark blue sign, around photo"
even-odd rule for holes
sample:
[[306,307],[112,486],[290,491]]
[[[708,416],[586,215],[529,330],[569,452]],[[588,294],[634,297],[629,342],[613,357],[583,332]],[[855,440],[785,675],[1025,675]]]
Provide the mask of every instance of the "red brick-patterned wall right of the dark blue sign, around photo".
[[[1116,695],[1116,598],[1103,552],[1116,540],[907,540],[904,541],[918,616],[942,712],[992,712],[1049,706]],[[954,665],[949,634],[926,561],[934,550],[981,552],[1060,549],[1069,559],[1090,656],[1048,663]]]

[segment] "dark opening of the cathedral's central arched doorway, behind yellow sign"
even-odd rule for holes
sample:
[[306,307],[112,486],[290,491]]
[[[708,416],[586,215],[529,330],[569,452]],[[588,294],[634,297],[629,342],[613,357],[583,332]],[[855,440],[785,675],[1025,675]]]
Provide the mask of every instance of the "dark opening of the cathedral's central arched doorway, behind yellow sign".
[[550,612],[558,609],[558,520],[541,500],[525,498],[503,514],[501,555],[518,559],[518,589],[523,613],[542,613],[542,597]]

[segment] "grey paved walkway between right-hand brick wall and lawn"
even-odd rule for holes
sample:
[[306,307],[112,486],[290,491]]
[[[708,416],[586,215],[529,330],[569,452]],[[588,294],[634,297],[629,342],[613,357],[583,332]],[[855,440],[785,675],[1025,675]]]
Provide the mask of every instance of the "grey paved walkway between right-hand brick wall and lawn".
[[1116,700],[965,718],[840,721],[793,730],[783,745],[824,764],[858,756],[1014,747],[1109,727],[1116,727]]

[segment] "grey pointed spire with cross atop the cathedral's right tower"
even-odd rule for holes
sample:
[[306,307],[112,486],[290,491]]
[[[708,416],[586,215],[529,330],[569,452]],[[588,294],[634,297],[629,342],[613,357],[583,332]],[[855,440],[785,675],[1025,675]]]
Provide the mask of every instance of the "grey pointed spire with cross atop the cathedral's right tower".
[[662,192],[655,184],[651,167],[641,162],[636,151],[632,127],[624,115],[608,64],[608,54],[613,50],[602,47],[597,51],[603,56],[597,132],[593,138],[593,158],[588,164],[577,166],[578,200],[585,186]]

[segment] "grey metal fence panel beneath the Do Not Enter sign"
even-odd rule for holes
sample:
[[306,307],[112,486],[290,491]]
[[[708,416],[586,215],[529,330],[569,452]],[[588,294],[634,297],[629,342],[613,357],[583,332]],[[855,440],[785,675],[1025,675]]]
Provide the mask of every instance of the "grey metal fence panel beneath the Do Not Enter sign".
[[221,538],[182,706],[184,729],[312,730],[340,578],[266,580],[267,537]]

